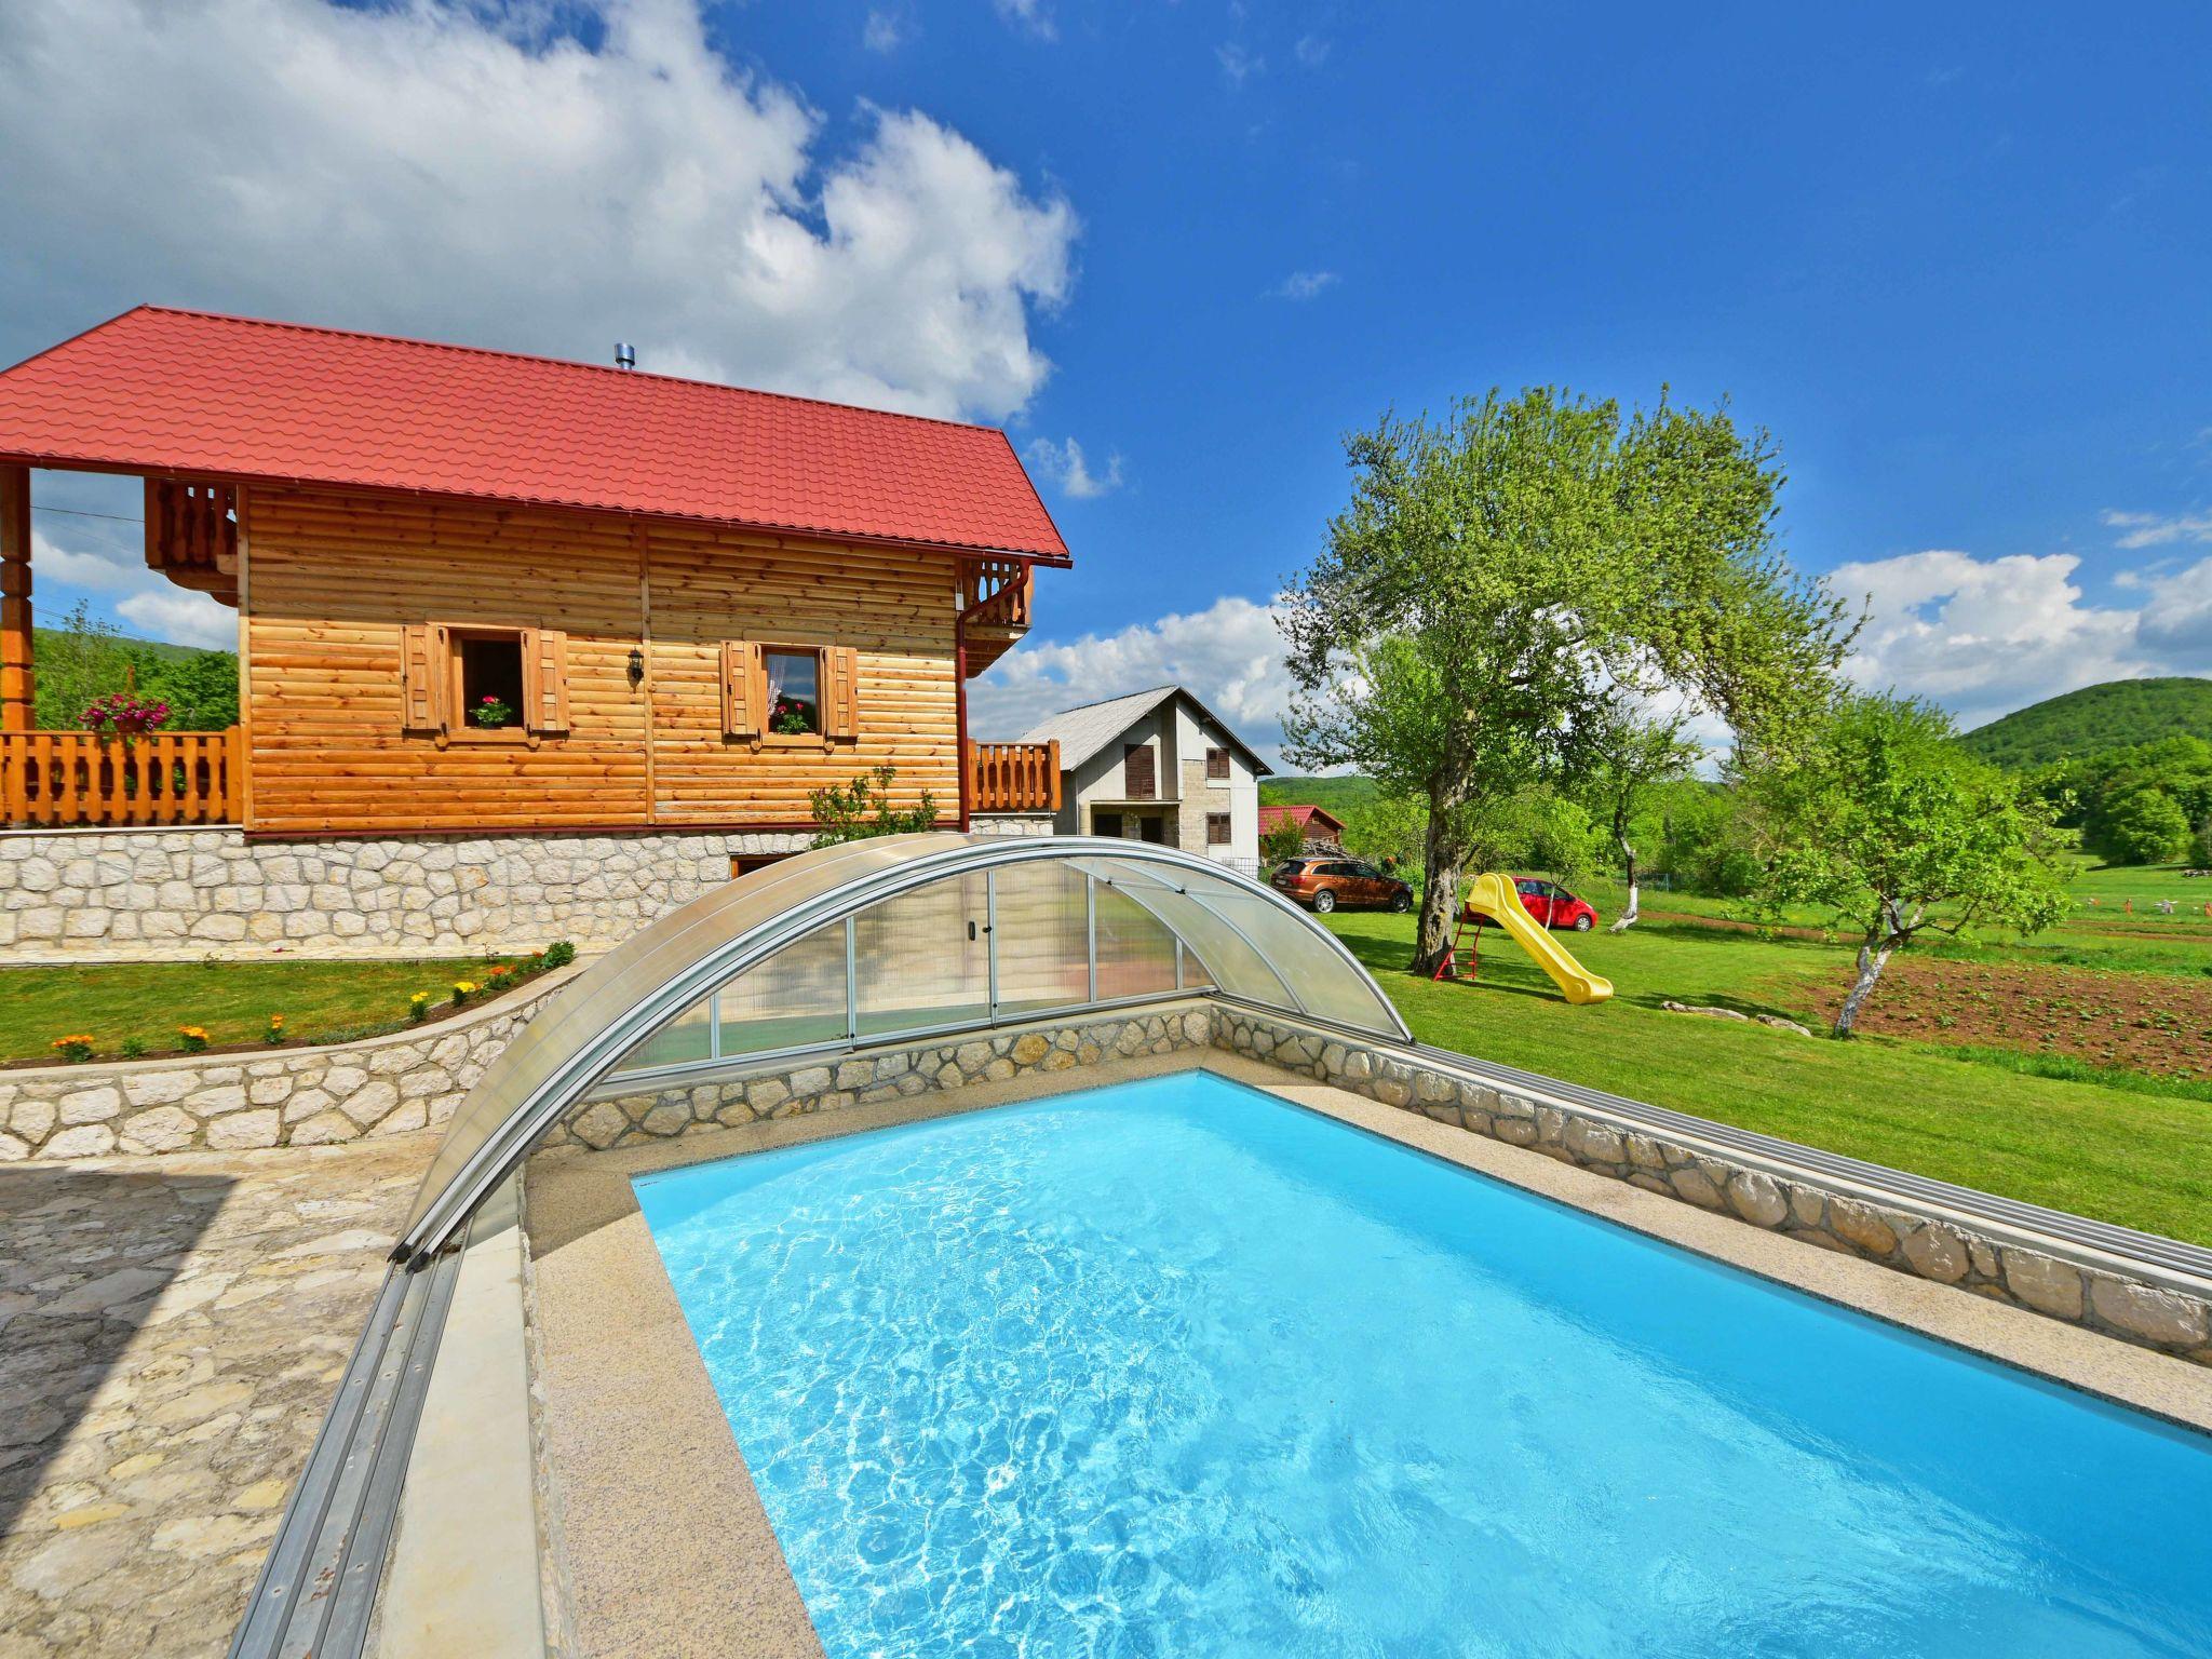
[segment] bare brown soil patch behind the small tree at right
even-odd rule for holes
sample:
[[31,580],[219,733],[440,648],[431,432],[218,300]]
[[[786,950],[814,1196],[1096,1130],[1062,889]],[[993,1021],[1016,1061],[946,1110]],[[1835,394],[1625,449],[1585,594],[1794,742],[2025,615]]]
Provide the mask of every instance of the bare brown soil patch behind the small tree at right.
[[[1820,993],[1834,1020],[1845,987]],[[2212,982],[2172,973],[1891,962],[1860,1031],[2068,1055],[2161,1077],[2212,1077]]]

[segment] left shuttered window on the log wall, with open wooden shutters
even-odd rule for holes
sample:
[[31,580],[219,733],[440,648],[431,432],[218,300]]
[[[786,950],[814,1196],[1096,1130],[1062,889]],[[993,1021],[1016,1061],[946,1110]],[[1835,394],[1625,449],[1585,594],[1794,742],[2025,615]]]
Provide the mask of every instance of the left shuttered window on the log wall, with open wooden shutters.
[[400,723],[451,739],[568,730],[568,635],[416,622],[400,628]]

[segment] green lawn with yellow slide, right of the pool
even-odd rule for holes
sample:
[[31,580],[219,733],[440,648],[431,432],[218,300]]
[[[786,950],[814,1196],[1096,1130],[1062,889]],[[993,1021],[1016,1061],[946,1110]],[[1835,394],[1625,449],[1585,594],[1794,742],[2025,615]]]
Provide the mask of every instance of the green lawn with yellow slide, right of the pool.
[[1697,927],[1562,940],[1613,980],[1573,1009],[1498,933],[1475,984],[1405,973],[1413,918],[1329,927],[1425,1042],[2059,1210],[2212,1243],[2212,1102],[2020,1075],[1933,1046],[1796,1037],[1663,1000],[1805,1018],[1849,953]]

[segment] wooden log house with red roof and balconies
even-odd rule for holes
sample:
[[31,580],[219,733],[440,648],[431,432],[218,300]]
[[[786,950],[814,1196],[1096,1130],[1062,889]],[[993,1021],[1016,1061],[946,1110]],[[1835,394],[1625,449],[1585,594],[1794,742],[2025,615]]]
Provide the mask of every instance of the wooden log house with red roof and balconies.
[[[31,730],[31,469],[144,478],[148,566],[239,613],[234,732]],[[139,307],[0,374],[0,821],[796,834],[876,765],[1051,814],[967,681],[1066,564],[987,427]]]

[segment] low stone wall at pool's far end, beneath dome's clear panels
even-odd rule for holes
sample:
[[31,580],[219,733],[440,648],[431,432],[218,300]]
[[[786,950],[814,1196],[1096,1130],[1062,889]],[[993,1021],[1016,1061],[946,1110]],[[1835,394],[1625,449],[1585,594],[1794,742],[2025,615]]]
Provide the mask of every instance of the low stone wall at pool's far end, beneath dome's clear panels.
[[1212,1042],[1212,1020],[1214,1013],[1206,1006],[1175,1004],[1159,1013],[1037,1024],[956,1042],[783,1060],[712,1082],[586,1102],[546,1135],[544,1146],[586,1146],[599,1152],[763,1117],[830,1113],[902,1095],[995,1084],[1022,1073],[1073,1071],[1099,1060],[1206,1048]]

